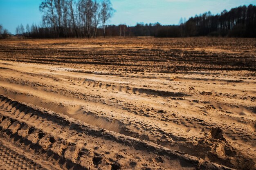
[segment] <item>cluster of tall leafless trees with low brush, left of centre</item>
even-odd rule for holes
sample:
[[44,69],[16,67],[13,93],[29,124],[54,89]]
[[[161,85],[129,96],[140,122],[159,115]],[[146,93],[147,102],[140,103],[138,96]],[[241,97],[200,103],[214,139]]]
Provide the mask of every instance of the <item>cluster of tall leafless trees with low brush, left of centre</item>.
[[106,36],[106,23],[114,9],[110,0],[42,0],[40,26],[21,24],[16,34],[31,38],[97,37],[99,25]]

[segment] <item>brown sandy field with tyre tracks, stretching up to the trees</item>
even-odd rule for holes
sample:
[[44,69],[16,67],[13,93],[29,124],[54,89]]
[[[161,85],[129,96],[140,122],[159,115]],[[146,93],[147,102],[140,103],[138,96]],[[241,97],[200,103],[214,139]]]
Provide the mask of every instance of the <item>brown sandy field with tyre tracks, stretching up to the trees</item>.
[[0,169],[256,169],[256,39],[0,40]]

